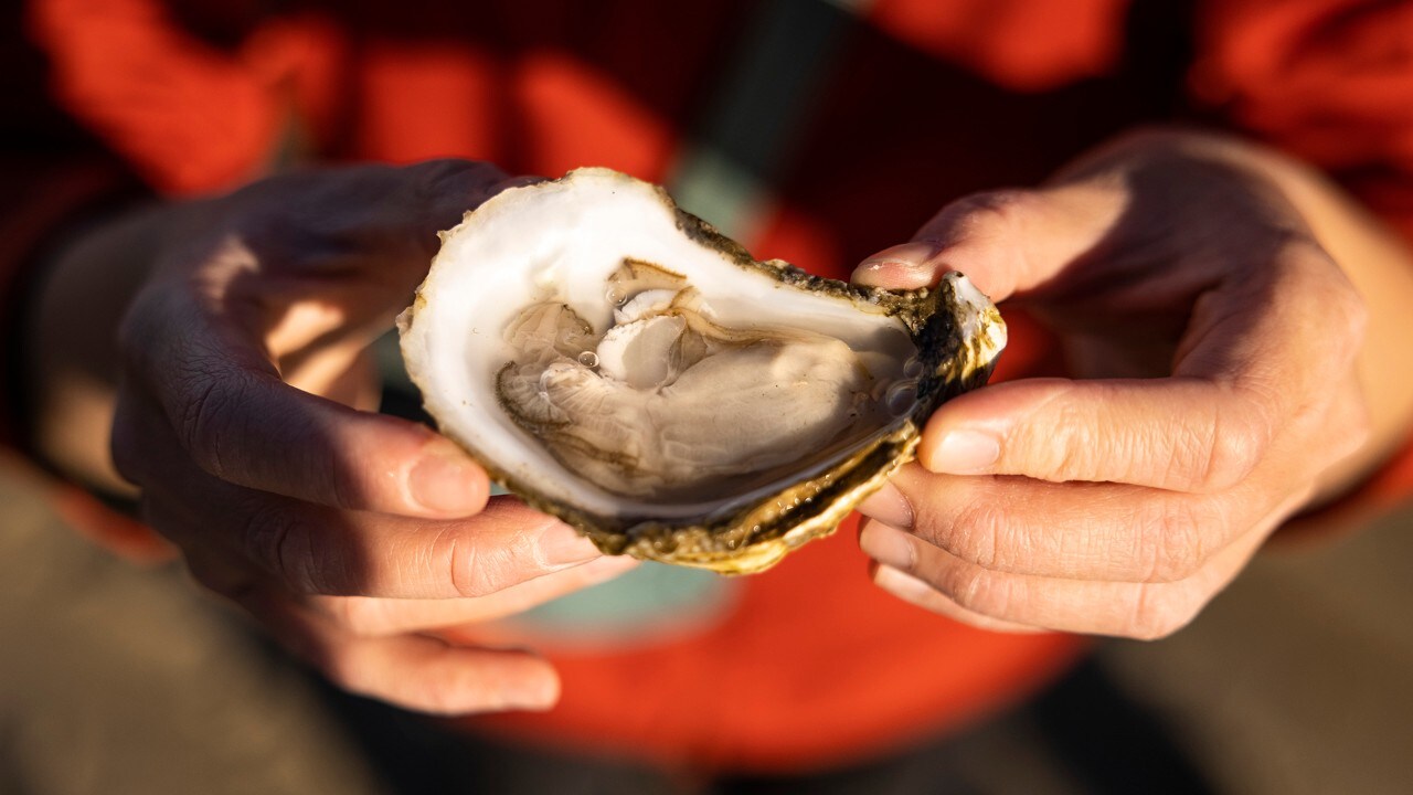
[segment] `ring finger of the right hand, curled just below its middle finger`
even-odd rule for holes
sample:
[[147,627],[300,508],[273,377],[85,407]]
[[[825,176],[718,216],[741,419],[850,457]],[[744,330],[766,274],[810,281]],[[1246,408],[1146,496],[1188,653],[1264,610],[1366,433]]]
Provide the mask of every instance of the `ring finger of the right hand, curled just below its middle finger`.
[[[992,571],[931,545],[917,547],[906,574],[962,610],[996,621],[1095,635],[1153,639],[1187,625],[1245,567],[1275,528],[1266,522],[1174,583],[1109,583]],[[870,530],[907,536],[879,525]]]

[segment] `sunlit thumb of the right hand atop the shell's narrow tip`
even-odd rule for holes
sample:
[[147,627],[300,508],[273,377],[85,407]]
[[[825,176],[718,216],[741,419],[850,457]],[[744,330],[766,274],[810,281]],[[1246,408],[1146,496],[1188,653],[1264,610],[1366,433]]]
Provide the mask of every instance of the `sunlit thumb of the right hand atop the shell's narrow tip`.
[[865,259],[852,279],[910,290],[959,270],[1002,301],[1044,284],[1094,249],[1122,211],[1118,190],[1094,184],[972,194],[944,207],[911,242]]

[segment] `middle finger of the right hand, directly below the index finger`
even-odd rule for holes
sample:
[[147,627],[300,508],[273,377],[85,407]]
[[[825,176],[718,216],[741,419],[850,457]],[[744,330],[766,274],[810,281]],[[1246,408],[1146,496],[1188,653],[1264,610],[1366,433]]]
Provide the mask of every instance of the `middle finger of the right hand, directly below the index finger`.
[[859,546],[880,563],[906,570],[918,555],[914,547],[933,545],[992,571],[1128,583],[1193,576],[1276,502],[1255,487],[1194,495],[1122,484],[938,477],[916,465],[901,468],[893,488],[907,504],[906,516],[877,501],[861,506],[911,532],[875,533],[865,523]]

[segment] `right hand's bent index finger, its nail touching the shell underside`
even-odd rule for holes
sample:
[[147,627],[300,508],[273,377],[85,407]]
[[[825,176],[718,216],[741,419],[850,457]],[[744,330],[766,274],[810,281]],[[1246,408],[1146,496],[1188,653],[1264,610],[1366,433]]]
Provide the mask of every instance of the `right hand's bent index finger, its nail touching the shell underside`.
[[1358,341],[1361,323],[1347,280],[1321,252],[1294,243],[1260,277],[1198,301],[1174,378],[1036,379],[972,392],[931,417],[918,460],[951,474],[1226,489],[1266,458],[1277,434],[1356,436],[1354,426],[1331,433],[1327,423],[1340,395],[1331,385],[1348,378],[1358,345],[1332,351],[1328,341]]

